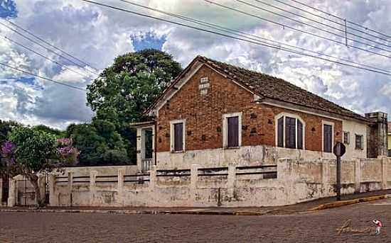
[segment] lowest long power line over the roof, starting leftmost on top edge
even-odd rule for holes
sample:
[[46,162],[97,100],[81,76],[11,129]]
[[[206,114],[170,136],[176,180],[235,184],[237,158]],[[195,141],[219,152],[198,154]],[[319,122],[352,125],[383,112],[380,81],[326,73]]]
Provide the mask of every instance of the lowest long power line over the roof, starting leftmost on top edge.
[[333,60],[328,60],[328,59],[323,58],[323,57],[316,57],[314,55],[308,55],[308,54],[304,54],[304,53],[301,53],[301,52],[296,52],[294,50],[288,50],[288,49],[286,49],[284,47],[277,47],[275,45],[266,45],[266,44],[262,44],[262,43],[255,42],[255,41],[252,41],[252,40],[246,40],[246,39],[243,39],[243,38],[237,38],[237,37],[232,36],[232,35],[226,35],[224,33],[218,33],[218,32],[212,31],[212,30],[205,30],[203,28],[198,28],[198,27],[195,27],[195,26],[189,26],[189,25],[186,25],[184,23],[178,23],[178,22],[175,22],[175,21],[169,21],[169,20],[166,20],[164,18],[159,18],[159,17],[155,17],[155,16],[149,16],[149,15],[144,14],[144,13],[137,13],[135,11],[130,11],[128,9],[122,9],[122,8],[119,8],[119,7],[116,7],[116,6],[110,6],[110,5],[107,5],[107,4],[101,4],[101,3],[97,3],[95,1],[90,1],[90,0],[82,0],[82,1],[88,2],[90,4],[95,4],[95,5],[98,5],[98,6],[104,6],[104,7],[107,7],[109,9],[115,9],[115,10],[124,11],[124,12],[127,12],[127,13],[132,13],[132,14],[135,14],[135,15],[138,15],[138,16],[144,16],[146,18],[153,18],[155,20],[164,21],[166,23],[173,23],[173,24],[176,24],[178,26],[183,26],[183,27],[192,28],[192,29],[195,29],[195,30],[200,30],[200,31],[203,31],[205,33],[213,33],[215,35],[221,35],[221,36],[224,36],[224,37],[227,37],[227,38],[232,38],[232,39],[235,39],[235,40],[241,40],[241,41],[245,41],[247,43],[252,43],[252,44],[255,44],[255,45],[262,45],[262,46],[265,46],[265,47],[271,47],[271,48],[274,48],[274,49],[277,49],[277,50],[284,50],[286,52],[295,53],[297,55],[303,55],[303,56],[306,56],[306,57],[314,57],[316,59],[323,60],[323,61],[326,61],[326,62],[333,62],[335,64],[341,64],[341,65],[345,65],[345,66],[348,66],[348,67],[355,67],[357,69],[363,69],[363,70],[367,70],[367,71],[370,71],[370,72],[376,72],[376,73],[380,73],[380,74],[385,74],[387,76],[391,76],[391,74],[389,74],[387,72],[379,72],[379,71],[376,71],[376,70],[373,70],[373,69],[357,67],[357,66],[354,66],[352,64],[346,64],[346,63],[343,63],[343,62],[337,62],[337,61],[333,61]]

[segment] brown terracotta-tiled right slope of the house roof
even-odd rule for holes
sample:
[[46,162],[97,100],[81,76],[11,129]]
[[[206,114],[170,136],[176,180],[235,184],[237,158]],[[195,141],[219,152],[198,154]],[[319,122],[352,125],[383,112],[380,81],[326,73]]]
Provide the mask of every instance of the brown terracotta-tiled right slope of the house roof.
[[321,96],[317,96],[316,94],[312,94],[305,89],[301,89],[300,87],[295,86],[294,84],[291,84],[284,79],[250,71],[241,67],[235,67],[231,64],[211,60],[207,57],[198,56],[198,58],[201,61],[209,64],[214,69],[218,70],[218,72],[221,72],[227,75],[227,77],[230,79],[243,84],[248,89],[252,90],[256,94],[259,94],[260,96],[368,121],[368,119],[362,115],[354,113],[353,111],[349,111],[342,106],[338,106],[336,103],[328,101]]

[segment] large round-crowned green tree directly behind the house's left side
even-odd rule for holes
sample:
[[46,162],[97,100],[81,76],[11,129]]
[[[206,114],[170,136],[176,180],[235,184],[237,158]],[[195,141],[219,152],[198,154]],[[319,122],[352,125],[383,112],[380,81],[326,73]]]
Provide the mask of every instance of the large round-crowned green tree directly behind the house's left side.
[[125,140],[127,154],[136,157],[136,134],[129,123],[145,119],[143,112],[181,72],[181,64],[160,50],[121,55],[87,86],[87,102],[93,120],[114,124]]

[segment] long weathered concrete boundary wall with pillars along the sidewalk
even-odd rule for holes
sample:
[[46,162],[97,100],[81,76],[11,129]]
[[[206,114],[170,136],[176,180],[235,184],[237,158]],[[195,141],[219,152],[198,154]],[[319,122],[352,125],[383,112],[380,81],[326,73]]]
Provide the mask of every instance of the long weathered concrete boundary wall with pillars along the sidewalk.
[[[277,165],[162,170],[148,174],[89,171],[50,176],[52,206],[250,207],[335,196],[336,161],[279,159]],[[277,171],[277,178],[275,172]],[[391,158],[342,162],[342,193],[391,188]]]

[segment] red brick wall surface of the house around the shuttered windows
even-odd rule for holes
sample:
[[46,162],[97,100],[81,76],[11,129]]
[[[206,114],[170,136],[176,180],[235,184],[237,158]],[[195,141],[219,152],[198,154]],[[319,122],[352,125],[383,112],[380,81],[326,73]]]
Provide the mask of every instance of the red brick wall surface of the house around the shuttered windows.
[[[208,77],[208,94],[200,95],[201,77]],[[156,151],[170,150],[170,120],[186,119],[186,150],[223,147],[223,114],[242,112],[242,146],[275,145],[274,116],[299,115],[306,123],[306,149],[321,151],[321,121],[335,124],[334,137],[342,139],[342,122],[316,115],[257,104],[253,95],[208,67],[200,70],[159,110]],[[313,129],[314,128],[314,129]]]

